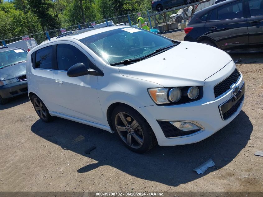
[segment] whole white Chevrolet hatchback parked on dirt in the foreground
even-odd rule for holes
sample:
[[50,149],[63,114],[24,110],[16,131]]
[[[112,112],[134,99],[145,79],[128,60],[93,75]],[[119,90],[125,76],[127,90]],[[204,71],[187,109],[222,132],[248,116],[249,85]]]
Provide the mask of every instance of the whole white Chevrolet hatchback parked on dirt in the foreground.
[[245,92],[222,50],[128,26],[38,45],[26,77],[43,121],[58,116],[115,132],[140,153],[209,137],[239,114]]

